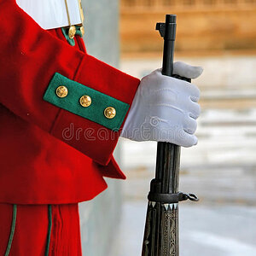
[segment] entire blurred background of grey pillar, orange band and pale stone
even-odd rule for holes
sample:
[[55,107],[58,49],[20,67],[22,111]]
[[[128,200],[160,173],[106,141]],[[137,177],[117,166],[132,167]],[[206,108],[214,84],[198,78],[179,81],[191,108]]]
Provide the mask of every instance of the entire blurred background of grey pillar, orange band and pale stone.
[[[85,44],[137,78],[161,67],[154,30],[177,15],[175,59],[204,67],[199,143],[182,149],[181,256],[256,255],[256,0],[83,0]],[[80,205],[84,255],[141,253],[156,143],[120,139],[115,152],[127,180]]]

